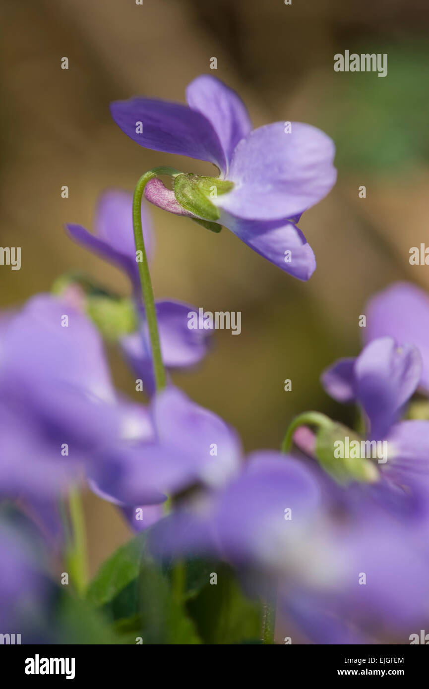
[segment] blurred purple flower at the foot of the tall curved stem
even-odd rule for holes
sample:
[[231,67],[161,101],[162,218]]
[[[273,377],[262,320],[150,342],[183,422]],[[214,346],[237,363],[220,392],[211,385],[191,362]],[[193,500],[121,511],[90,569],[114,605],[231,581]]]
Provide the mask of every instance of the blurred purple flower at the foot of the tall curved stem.
[[150,417],[152,438],[103,449],[117,472],[99,476],[102,463],[94,464],[92,484],[104,497],[128,507],[156,505],[194,485],[219,486],[239,471],[235,432],[177,388],[154,396]]

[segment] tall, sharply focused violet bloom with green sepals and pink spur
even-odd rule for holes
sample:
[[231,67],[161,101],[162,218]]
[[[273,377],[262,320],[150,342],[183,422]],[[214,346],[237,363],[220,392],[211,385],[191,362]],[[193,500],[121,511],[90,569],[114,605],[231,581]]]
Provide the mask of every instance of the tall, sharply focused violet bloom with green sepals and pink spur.
[[332,140],[303,123],[252,130],[239,96],[213,76],[194,79],[186,99],[188,105],[146,98],[111,105],[117,125],[143,147],[219,168],[215,177],[178,174],[174,191],[154,178],[146,185],[146,198],[174,214],[210,223],[210,229],[228,227],[261,256],[308,280],[315,256],[295,223],[335,184]]

